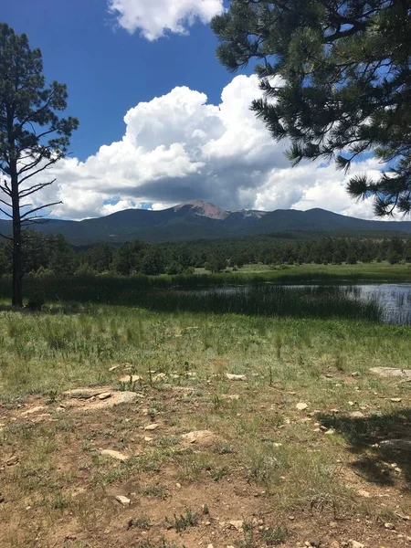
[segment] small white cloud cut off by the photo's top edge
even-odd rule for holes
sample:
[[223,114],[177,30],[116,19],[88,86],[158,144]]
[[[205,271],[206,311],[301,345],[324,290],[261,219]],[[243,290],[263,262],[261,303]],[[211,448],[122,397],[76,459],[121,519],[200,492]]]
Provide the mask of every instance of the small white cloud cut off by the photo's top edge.
[[148,40],[169,31],[187,34],[195,21],[208,23],[223,12],[223,0],[109,0],[109,11],[118,24],[133,33],[140,30]]

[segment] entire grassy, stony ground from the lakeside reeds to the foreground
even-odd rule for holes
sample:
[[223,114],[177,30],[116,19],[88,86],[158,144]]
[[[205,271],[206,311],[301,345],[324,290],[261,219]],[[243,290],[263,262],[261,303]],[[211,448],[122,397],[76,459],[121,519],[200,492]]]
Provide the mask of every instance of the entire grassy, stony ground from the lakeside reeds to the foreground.
[[[410,327],[338,288],[145,281],[49,279],[44,311],[0,312],[0,545],[409,545],[410,461],[380,442],[409,437],[411,385],[369,369],[409,367]],[[68,406],[90,386],[137,399]]]

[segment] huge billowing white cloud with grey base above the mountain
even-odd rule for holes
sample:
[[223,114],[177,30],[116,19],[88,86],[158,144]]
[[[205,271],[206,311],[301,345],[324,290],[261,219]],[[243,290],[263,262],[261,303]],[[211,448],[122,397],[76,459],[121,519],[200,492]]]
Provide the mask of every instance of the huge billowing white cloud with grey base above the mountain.
[[74,219],[193,199],[226,209],[322,207],[371,218],[372,204],[353,202],[345,187],[352,174],[377,176],[381,164],[355,163],[349,175],[320,162],[292,168],[284,156],[288,143],[274,142],[249,109],[259,94],[258,78],[242,75],[222,91],[219,105],[186,87],[140,102],[124,117],[121,141],[84,162],[59,162],[49,174],[56,184],[33,197],[61,200],[53,216]]

